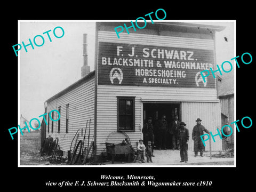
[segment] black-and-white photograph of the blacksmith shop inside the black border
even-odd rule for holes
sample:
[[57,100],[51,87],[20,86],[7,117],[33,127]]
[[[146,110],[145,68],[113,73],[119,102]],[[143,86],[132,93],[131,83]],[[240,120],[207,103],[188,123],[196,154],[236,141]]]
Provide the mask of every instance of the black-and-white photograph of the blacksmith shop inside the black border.
[[236,22],[144,20],[19,22],[20,166],[235,165]]

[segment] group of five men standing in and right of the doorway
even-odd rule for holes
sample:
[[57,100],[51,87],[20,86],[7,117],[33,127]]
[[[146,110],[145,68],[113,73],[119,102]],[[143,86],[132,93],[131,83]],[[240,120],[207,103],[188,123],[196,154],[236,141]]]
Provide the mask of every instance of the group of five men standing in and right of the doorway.
[[[205,151],[201,135],[203,135],[204,132],[210,133],[201,122],[202,120],[200,118],[196,119],[196,125],[193,127],[192,132],[195,157],[198,155],[198,151],[201,156],[203,156],[203,152]],[[179,121],[178,115],[174,116],[171,123],[168,123],[166,116],[163,115],[162,119],[156,121],[154,125],[152,118],[149,117],[142,128],[144,143],[151,141],[151,145],[158,150],[166,150],[167,148],[180,150],[181,162],[187,162],[189,131],[185,126],[185,122]]]

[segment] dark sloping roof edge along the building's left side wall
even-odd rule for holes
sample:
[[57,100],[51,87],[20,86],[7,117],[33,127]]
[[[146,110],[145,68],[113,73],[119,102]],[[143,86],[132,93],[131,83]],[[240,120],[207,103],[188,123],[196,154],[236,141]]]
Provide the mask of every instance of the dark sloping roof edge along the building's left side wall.
[[91,73],[87,74],[85,77],[79,79],[77,82],[69,85],[66,89],[60,91],[59,93],[53,95],[51,98],[47,99],[46,102],[49,102],[53,99],[59,98],[61,95],[66,94],[67,92],[75,89],[76,87],[78,87],[79,85],[89,81],[91,78],[93,78],[95,76],[95,70],[93,70]]

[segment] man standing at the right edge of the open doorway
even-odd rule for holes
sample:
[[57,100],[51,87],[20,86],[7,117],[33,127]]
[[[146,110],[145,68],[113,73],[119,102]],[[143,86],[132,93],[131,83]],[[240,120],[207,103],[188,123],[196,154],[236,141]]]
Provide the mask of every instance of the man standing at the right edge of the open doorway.
[[172,150],[174,149],[179,150],[179,145],[178,145],[179,129],[180,129],[180,121],[178,120],[178,115],[175,115],[174,121],[170,125],[170,129],[169,129],[169,133],[171,134]]

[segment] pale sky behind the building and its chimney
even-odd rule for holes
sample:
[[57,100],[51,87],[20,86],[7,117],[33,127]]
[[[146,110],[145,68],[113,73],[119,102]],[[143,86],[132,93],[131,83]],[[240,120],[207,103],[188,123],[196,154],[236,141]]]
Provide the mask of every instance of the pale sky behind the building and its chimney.
[[[182,21],[183,22],[183,21]],[[193,23],[225,26],[226,28],[216,34],[217,64],[230,61],[234,58],[235,23],[234,21]],[[65,34],[61,38],[53,35],[56,27],[62,27]],[[47,34],[49,31],[52,42]],[[57,36],[62,32],[55,30]],[[95,22],[88,21],[19,21],[18,42],[29,44],[36,35],[44,37],[44,44],[40,37],[36,38],[34,50],[27,46],[27,52],[22,49],[18,52],[19,60],[19,116],[22,114],[28,121],[44,114],[44,102],[66,89],[81,78],[83,66],[83,34],[87,34],[88,65],[94,70],[95,53]],[[225,38],[227,41],[225,41]],[[34,44],[34,43],[33,43]],[[15,53],[14,53],[15,55]],[[234,66],[234,65],[233,65]],[[235,68],[235,67],[234,67]],[[233,68],[233,69],[234,69]],[[19,118],[19,117],[18,117]],[[38,118],[42,119],[42,118]]]

